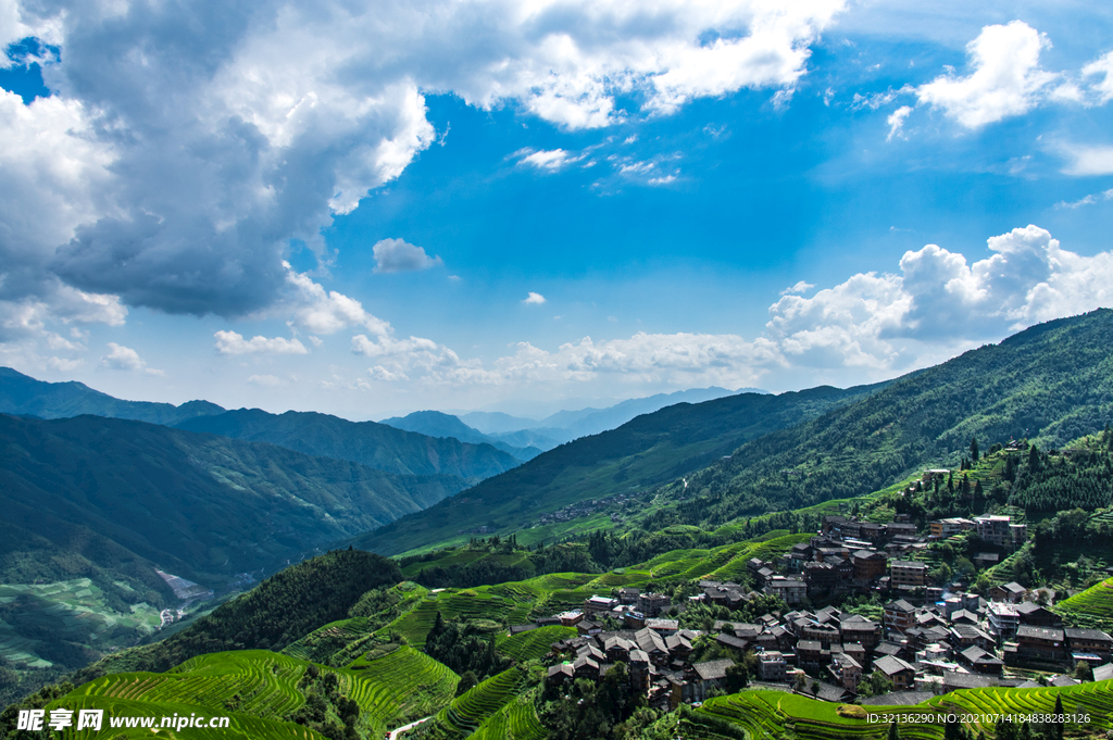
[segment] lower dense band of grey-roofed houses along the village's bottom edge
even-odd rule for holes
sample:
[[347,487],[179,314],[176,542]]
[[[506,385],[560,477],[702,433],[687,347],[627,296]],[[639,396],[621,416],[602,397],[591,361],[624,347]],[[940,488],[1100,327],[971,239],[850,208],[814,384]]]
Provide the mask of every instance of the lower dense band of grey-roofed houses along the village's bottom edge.
[[[733,583],[702,581],[716,598],[740,593]],[[636,590],[626,590],[636,591]],[[1095,679],[1113,678],[1113,638],[1100,630],[1064,628],[1051,610],[1032,601],[1023,586],[998,586],[991,599],[971,593],[947,594],[935,603],[915,605],[897,599],[885,605],[880,622],[826,606],[767,614],[756,623],[718,621],[708,635],[741,659],[754,651],[757,674],[766,684],[800,685],[801,692],[828,701],[850,701],[871,673],[880,672],[897,692],[925,694],[988,685],[1035,685],[1007,678],[1006,667],[1067,671],[1075,663],[1094,665]],[[649,605],[660,594],[643,594]],[[756,592],[741,594],[742,601]],[[618,662],[627,664],[631,690],[644,692],[653,707],[676,708],[702,701],[712,689],[725,689],[731,659],[690,662],[701,635],[682,630],[672,619],[647,618],[628,610],[622,630],[605,631],[588,618],[622,606],[618,599],[592,596],[582,611],[561,614],[579,634],[552,644],[563,662],[549,669],[550,683],[577,678],[599,680]],[[541,620],[546,623],[551,621]],[[515,629],[532,629],[528,628]],[[805,681],[798,681],[798,677]],[[1106,675],[1107,674],[1107,675]],[[1066,675],[1057,684],[1075,682]]]

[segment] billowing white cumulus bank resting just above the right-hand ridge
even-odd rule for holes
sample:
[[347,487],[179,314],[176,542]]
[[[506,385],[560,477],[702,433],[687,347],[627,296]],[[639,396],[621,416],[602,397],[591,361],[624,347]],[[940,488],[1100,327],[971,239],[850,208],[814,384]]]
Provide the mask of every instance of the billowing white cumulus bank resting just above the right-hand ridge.
[[1036,226],[992,237],[988,247],[992,257],[967,264],[927,245],[905,253],[898,274],[858,274],[811,298],[785,296],[769,309],[767,335],[794,365],[893,369],[1113,305],[1113,253],[1068,251]]

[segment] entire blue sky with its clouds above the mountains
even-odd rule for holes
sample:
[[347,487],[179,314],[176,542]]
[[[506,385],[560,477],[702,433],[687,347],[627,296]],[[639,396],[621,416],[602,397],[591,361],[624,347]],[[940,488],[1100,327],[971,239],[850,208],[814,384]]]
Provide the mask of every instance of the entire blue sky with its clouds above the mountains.
[[1113,305],[1113,11],[969,4],[9,0],[0,363],[541,414]]

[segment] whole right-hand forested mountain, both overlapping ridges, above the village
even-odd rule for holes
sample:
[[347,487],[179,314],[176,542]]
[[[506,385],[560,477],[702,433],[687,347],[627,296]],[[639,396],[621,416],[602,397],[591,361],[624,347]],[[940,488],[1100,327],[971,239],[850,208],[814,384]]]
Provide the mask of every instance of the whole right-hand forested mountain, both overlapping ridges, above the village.
[[[1113,418],[1111,346],[1113,310],[1100,309],[874,386],[670,406],[354,542],[395,554],[477,531],[553,539],[611,526],[607,502],[581,502],[621,493],[654,495],[641,514],[649,530],[716,526],[878,491],[924,464],[957,463],[975,436],[1063,444]],[[546,524],[560,510],[561,524]]]

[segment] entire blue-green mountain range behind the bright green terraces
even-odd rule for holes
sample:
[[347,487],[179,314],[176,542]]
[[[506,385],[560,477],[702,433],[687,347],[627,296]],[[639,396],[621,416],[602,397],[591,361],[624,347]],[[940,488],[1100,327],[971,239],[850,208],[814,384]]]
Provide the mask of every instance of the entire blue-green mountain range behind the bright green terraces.
[[[679,541],[670,533],[729,534],[761,514],[873,494],[925,466],[957,467],[975,438],[1058,447],[1113,420],[1111,346],[1113,310],[1096,310],[875,385],[673,404],[524,464],[490,444],[385,424],[204,402],[131,404],[6,371],[0,411],[22,415],[0,415],[0,578],[26,584],[26,593],[0,586],[9,589],[0,593],[0,648],[29,655],[20,660],[77,667],[134,641],[130,628],[117,628],[111,642],[100,637],[110,632],[104,626],[82,637],[73,624],[91,625],[97,614],[105,621],[96,624],[122,624],[111,621],[175,603],[155,569],[211,586],[238,573],[272,573],[337,542],[413,554],[476,534],[515,547],[610,530],[612,542],[662,535],[664,546]],[[36,417],[91,407],[162,424]],[[1030,493],[1044,507],[1061,499]],[[679,546],[692,545],[666,550]],[[63,588],[72,594],[65,609],[48,594]],[[542,592],[538,598],[548,598]],[[500,593],[506,601],[492,598],[490,613],[518,609],[519,591]],[[403,637],[424,638],[435,599]],[[73,609],[92,616],[75,622]],[[283,622],[282,613],[264,611],[260,623]],[[207,639],[195,637],[197,644]],[[276,644],[296,637],[283,632]],[[249,644],[237,634],[221,640],[213,644]]]

